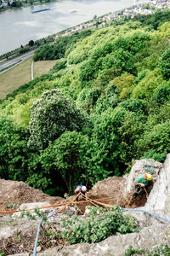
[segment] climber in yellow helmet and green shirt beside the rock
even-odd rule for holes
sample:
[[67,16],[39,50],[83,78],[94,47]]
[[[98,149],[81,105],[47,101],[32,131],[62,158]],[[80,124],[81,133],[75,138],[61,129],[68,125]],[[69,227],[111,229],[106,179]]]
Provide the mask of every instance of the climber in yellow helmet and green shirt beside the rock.
[[134,193],[133,196],[136,197],[138,195],[150,193],[150,190],[153,188],[155,180],[153,179],[150,173],[144,173],[142,175],[139,175],[135,179],[134,183],[136,193]]

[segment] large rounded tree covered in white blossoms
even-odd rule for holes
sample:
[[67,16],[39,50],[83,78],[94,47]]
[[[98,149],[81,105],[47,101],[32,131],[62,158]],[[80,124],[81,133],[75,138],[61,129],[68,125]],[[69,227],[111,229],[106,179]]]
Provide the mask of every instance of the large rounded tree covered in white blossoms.
[[59,90],[47,90],[31,107],[29,147],[42,149],[65,131],[81,131],[88,117]]

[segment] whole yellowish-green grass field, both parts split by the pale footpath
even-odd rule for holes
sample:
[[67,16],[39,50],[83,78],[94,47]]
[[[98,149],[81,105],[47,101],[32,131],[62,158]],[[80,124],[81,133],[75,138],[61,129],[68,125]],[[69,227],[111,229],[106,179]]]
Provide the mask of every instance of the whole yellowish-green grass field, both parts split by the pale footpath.
[[[34,78],[44,73],[54,66],[56,61],[36,61],[33,66]],[[23,61],[19,65],[11,68],[6,73],[0,74],[0,100],[4,99],[8,93],[18,89],[21,84],[31,80],[31,58]]]

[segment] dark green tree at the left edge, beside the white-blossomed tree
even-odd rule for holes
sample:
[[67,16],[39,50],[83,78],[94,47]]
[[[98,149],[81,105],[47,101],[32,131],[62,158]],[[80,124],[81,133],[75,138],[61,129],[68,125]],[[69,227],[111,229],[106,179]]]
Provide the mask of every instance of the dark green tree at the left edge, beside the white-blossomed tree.
[[26,180],[30,152],[27,148],[28,131],[0,117],[0,176],[12,180]]

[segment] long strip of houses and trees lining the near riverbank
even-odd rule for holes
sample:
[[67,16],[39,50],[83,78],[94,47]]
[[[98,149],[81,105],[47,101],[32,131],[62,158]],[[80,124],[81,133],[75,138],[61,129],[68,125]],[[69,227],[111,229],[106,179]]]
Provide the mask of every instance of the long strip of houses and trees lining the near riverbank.
[[[9,0],[0,0],[0,3],[1,3],[0,9],[2,8],[2,6],[4,6],[4,4],[5,5],[9,3],[11,4],[11,3],[14,3],[14,1],[20,1],[20,0],[10,0],[10,2]],[[26,3],[26,1],[28,0],[22,0],[22,1]],[[33,0],[29,0],[29,1],[33,1]],[[54,0],[45,0],[45,1],[50,2]],[[37,39],[37,41],[35,42],[31,40],[33,44],[30,45],[30,42],[29,42],[29,44],[26,44],[24,47],[21,45],[20,48],[14,49],[8,53],[1,55],[0,60],[2,60],[3,58],[7,58],[7,59],[12,58],[14,56],[23,54],[29,50],[37,49],[37,47],[39,47],[39,45],[41,44],[44,44],[44,43],[48,44],[48,43],[54,42],[56,38],[68,36],[75,32],[80,32],[84,29],[108,26],[109,23],[113,22],[114,20],[116,22],[116,20],[121,17],[127,16],[127,20],[130,20],[137,17],[138,15],[154,14],[158,9],[160,10],[170,9],[170,0],[150,0],[150,1],[145,1],[143,3],[139,3],[138,1],[136,3],[134,2],[133,6],[125,9],[117,10],[115,12],[111,12],[109,14],[102,15],[99,17],[97,15],[94,15],[92,20],[88,20],[77,26],[67,28],[62,32],[56,32],[53,35],[49,35],[46,38]]]

